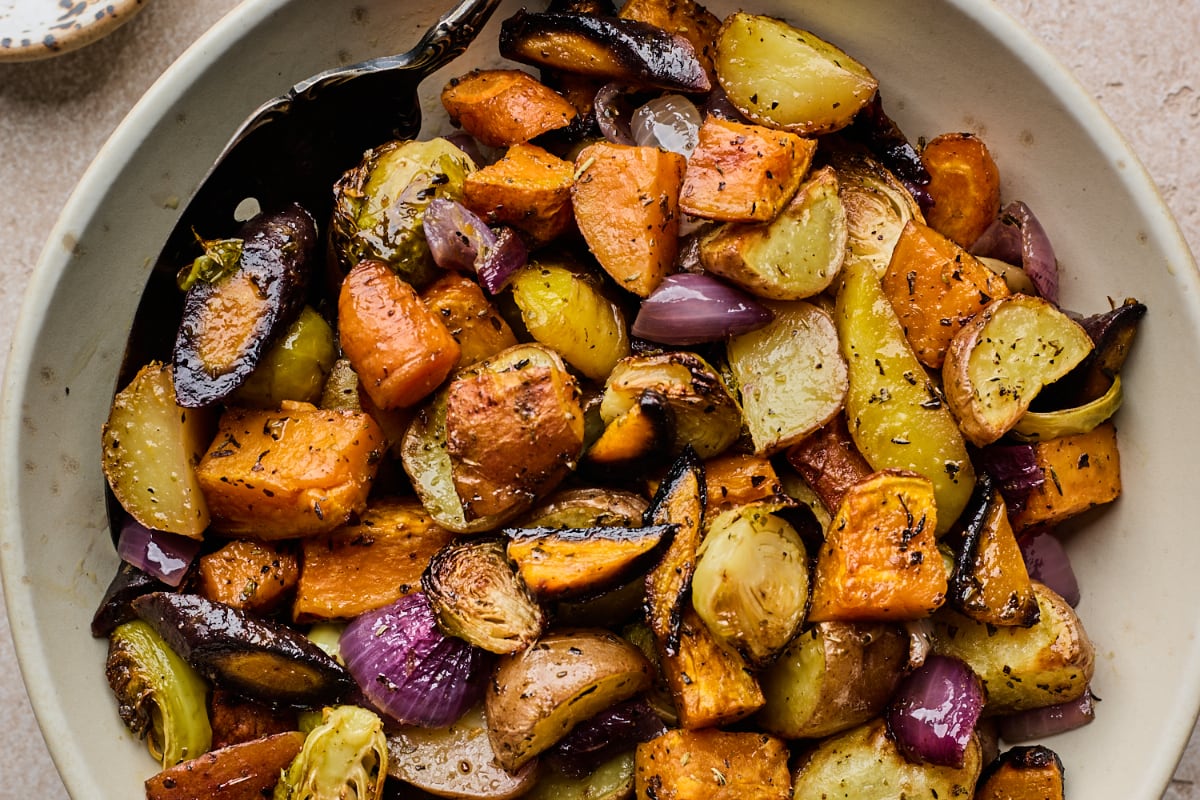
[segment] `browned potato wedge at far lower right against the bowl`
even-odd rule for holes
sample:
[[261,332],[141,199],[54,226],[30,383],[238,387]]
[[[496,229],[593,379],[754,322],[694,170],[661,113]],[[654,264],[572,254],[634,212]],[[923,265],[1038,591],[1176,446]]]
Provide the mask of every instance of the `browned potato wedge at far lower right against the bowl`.
[[934,651],[960,658],[988,692],[985,714],[1066,703],[1082,696],[1096,650],[1075,610],[1033,583],[1040,619],[1032,627],[996,627],[944,607],[934,615]]

